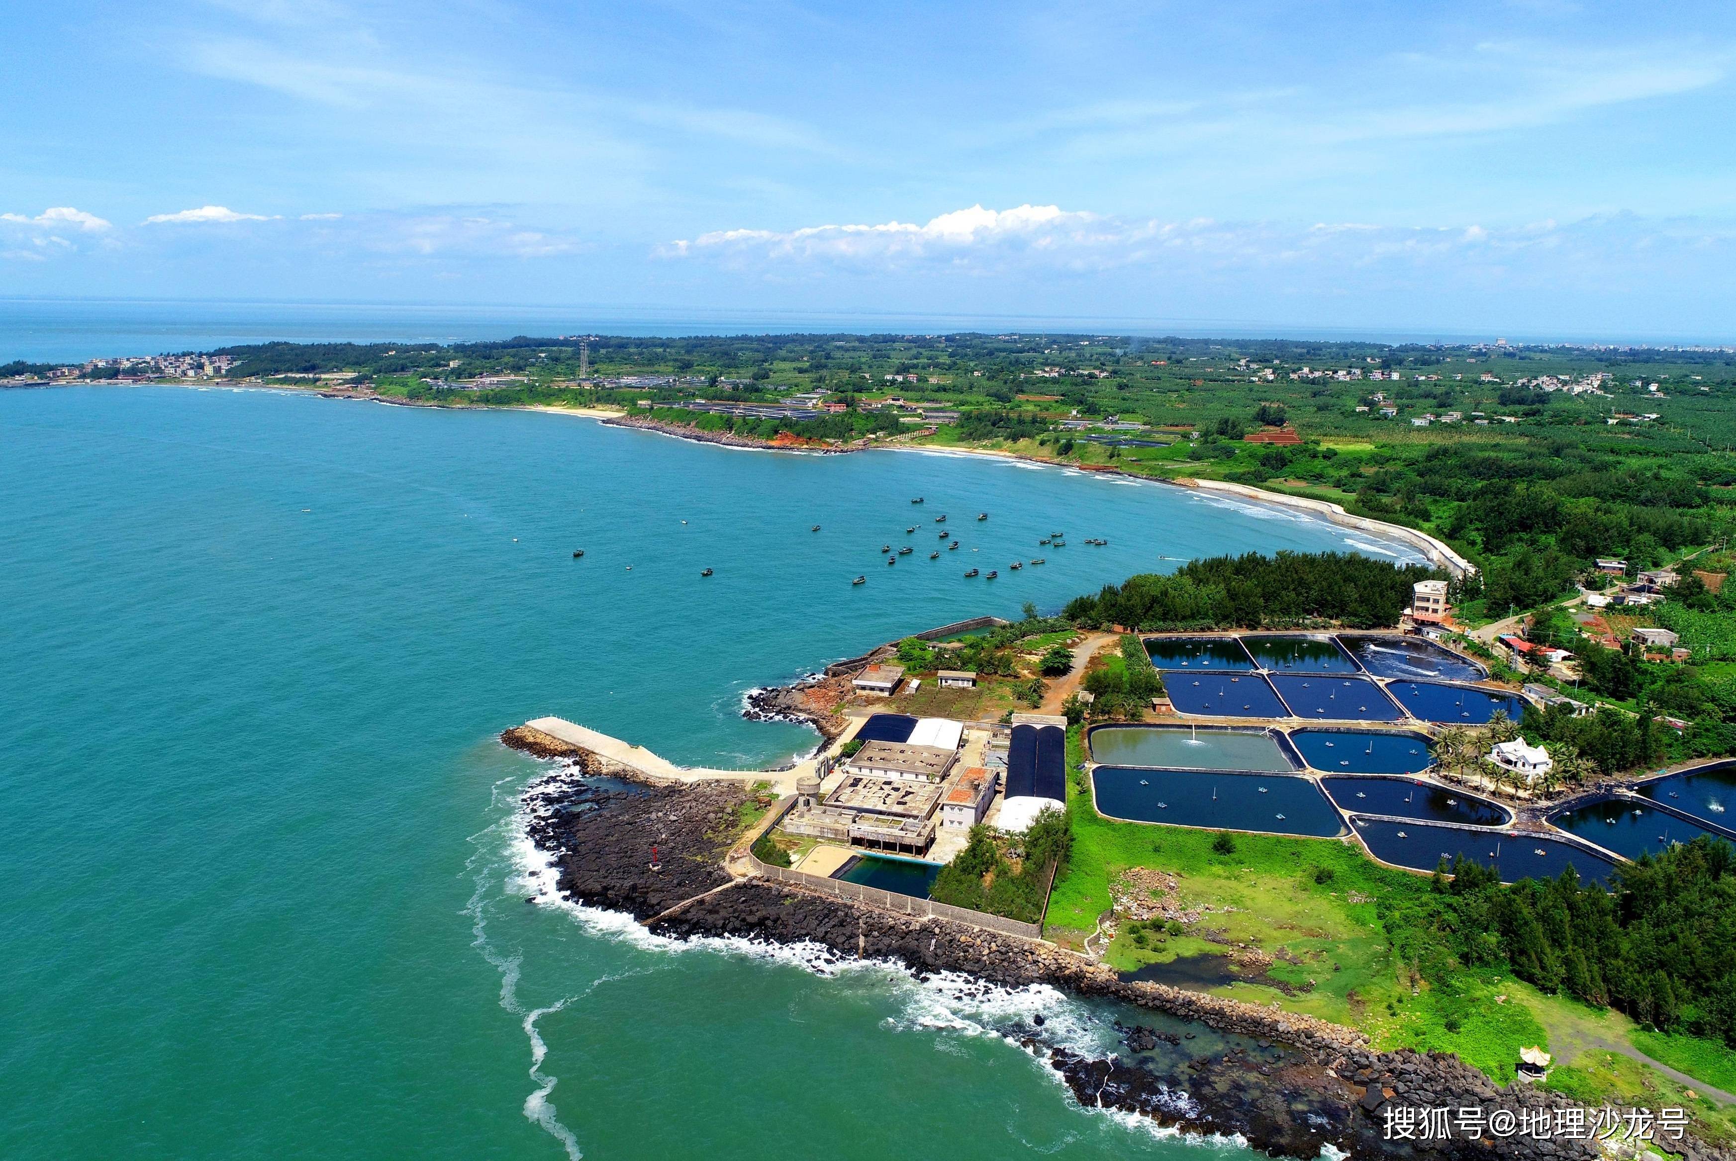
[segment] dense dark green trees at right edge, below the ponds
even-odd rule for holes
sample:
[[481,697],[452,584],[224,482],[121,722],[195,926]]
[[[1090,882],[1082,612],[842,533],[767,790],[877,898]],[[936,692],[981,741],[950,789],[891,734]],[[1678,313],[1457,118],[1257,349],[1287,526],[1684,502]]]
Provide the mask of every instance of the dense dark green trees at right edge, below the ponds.
[[1443,866],[1425,901],[1389,908],[1394,948],[1424,975],[1509,967],[1545,993],[1736,1046],[1736,850],[1696,838],[1613,871],[1611,889]]

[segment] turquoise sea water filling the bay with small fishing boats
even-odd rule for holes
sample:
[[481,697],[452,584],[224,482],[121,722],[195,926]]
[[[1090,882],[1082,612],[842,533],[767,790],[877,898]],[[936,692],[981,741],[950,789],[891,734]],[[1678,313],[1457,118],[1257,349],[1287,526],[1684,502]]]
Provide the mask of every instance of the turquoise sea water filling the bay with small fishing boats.
[[[1406,550],[981,458],[267,390],[0,392],[0,1156],[1250,1156],[993,1034],[1101,1040],[1087,1005],[526,906],[549,767],[495,736],[774,762],[811,734],[743,692],[878,640],[1200,554]],[[967,548],[929,562],[941,512]]]

